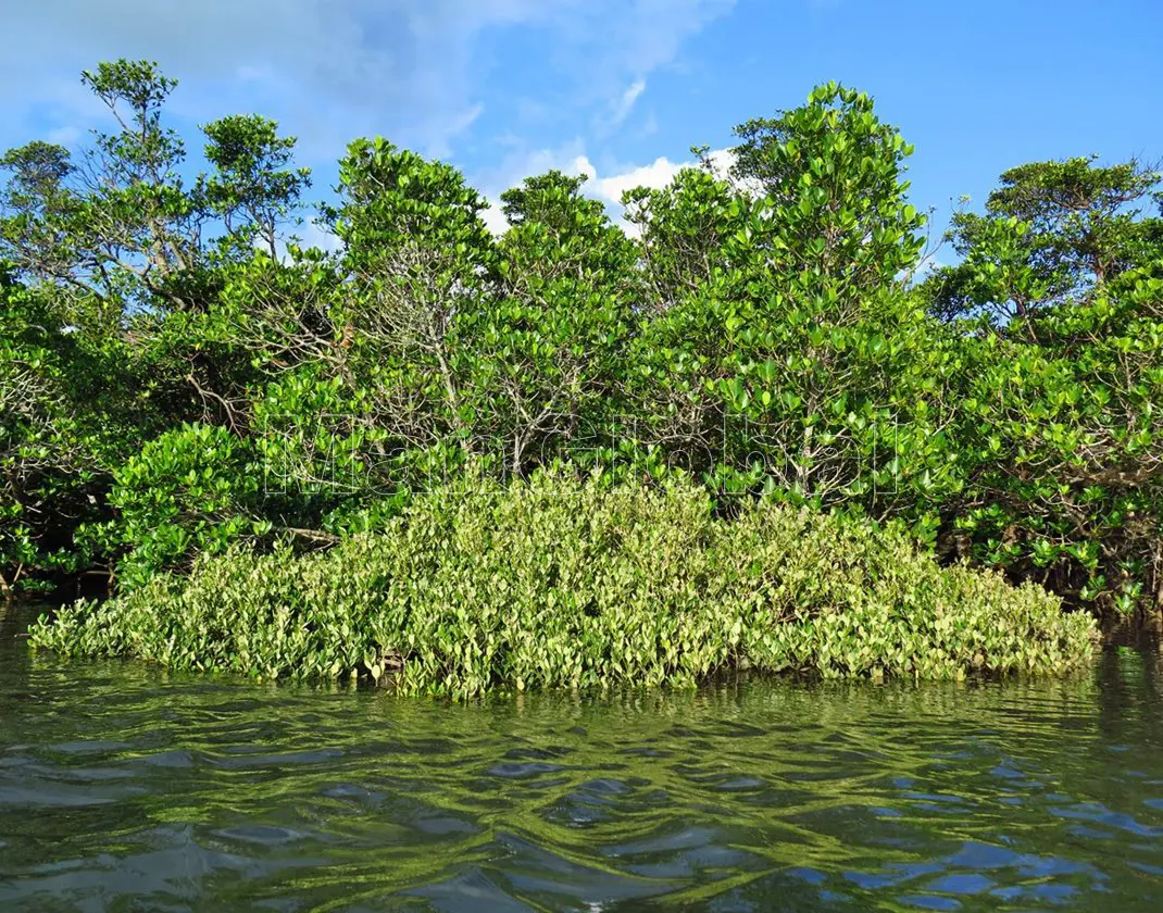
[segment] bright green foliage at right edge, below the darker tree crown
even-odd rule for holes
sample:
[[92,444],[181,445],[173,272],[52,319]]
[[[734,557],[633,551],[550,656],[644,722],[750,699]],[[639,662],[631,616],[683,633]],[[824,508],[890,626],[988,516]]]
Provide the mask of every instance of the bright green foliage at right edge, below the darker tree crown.
[[1163,604],[1163,281],[1122,284],[1047,309],[1033,342],[966,343],[954,522],[978,561],[1129,614]]

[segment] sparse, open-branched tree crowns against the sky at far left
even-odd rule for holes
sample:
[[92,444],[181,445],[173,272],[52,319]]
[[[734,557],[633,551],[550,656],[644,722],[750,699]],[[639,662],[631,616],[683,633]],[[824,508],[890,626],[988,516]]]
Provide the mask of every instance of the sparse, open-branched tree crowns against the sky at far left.
[[127,312],[206,306],[206,274],[223,251],[273,251],[299,207],[305,170],[288,171],[294,141],[263,117],[226,117],[204,128],[214,170],[184,177],[186,149],[163,106],[177,80],[148,60],[102,63],[81,81],[116,128],[94,131],[76,166],[67,150],[34,142],[9,150],[0,194],[0,256],[17,276],[57,286],[67,322],[117,331]]

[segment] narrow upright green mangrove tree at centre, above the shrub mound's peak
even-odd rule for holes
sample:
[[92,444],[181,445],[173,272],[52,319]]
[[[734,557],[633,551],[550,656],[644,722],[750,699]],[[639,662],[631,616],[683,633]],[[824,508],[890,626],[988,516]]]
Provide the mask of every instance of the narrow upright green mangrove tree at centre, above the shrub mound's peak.
[[502,194],[513,227],[478,311],[457,321],[471,352],[466,401],[477,450],[509,473],[608,445],[632,334],[636,245],[583,179],[550,172]]

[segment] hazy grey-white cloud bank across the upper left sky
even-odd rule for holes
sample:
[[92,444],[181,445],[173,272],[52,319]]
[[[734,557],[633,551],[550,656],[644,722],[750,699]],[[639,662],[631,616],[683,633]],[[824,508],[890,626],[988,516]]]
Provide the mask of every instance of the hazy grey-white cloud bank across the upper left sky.
[[[508,27],[542,30],[578,106],[620,98],[625,119],[647,76],[734,0],[52,0],[5,10],[0,140],[93,123],[83,67],[148,57],[184,80],[174,112],[192,121],[262,110],[334,158],[383,134],[447,156],[488,99],[483,42]],[[549,66],[549,63],[547,63]],[[504,73],[501,74],[501,77]],[[500,78],[500,77],[497,77]],[[630,79],[630,91],[626,80]],[[615,88],[615,86],[618,86]],[[497,86],[493,86],[498,90]],[[504,91],[501,86],[498,91]],[[619,97],[619,93],[622,93]],[[590,97],[597,93],[597,98]],[[533,93],[536,95],[536,91]]]

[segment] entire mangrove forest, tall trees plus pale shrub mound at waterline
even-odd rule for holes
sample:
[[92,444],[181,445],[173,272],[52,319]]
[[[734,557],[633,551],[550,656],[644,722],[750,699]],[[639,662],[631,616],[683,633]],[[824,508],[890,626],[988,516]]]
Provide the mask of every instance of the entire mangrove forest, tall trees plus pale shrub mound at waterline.
[[261,115],[188,150],[154,63],[83,80],[84,148],[0,158],[34,648],[465,698],[1057,675],[1163,611],[1147,163],[1015,163],[935,258],[912,147],[827,84],[622,214],[530,177],[498,234],[384,138],[322,192]]

